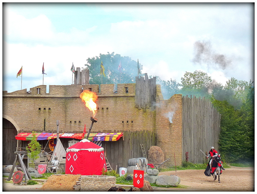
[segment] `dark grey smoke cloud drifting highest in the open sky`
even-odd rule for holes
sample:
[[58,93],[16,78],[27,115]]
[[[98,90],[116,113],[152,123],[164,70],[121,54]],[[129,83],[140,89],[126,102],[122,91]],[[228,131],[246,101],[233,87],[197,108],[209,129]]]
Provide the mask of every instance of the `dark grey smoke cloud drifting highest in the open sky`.
[[232,60],[228,59],[225,55],[218,54],[212,50],[210,42],[196,41],[194,43],[194,52],[195,56],[192,59],[192,62],[199,63],[200,65],[203,63],[207,64],[208,67],[217,65],[219,68],[224,70],[232,63]]

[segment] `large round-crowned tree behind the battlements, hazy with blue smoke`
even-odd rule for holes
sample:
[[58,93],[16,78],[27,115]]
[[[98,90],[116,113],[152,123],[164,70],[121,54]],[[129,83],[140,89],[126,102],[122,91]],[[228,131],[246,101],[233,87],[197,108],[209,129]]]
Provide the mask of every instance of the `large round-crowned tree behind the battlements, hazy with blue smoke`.
[[[106,77],[100,75],[101,61],[105,68]],[[122,73],[118,70],[121,62]],[[130,57],[122,57],[114,52],[101,54],[99,56],[88,58],[85,66],[89,69],[89,84],[118,84],[118,83],[135,83],[137,76],[137,61]],[[139,64],[140,70],[142,65]]]

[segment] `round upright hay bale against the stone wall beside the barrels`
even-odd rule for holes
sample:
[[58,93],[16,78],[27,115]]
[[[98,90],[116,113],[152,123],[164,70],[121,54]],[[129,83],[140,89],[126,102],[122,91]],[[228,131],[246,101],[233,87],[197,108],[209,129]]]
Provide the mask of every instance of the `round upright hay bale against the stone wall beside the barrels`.
[[164,162],[164,154],[160,147],[151,146],[148,150],[148,163],[149,164],[161,164]]

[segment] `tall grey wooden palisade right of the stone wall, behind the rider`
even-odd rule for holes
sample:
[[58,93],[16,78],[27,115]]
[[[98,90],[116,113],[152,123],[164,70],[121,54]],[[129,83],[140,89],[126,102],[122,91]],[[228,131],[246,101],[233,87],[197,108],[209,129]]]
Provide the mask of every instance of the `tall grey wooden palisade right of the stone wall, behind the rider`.
[[[214,146],[218,151],[221,114],[203,97],[182,97],[182,160],[202,163],[204,154]],[[219,153],[219,152],[218,152]]]

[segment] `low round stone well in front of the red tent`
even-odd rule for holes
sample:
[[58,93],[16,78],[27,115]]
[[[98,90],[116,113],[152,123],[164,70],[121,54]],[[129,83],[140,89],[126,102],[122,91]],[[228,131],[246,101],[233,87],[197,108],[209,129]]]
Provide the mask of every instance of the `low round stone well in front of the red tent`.
[[116,186],[116,177],[103,175],[82,175],[80,191],[108,191]]

